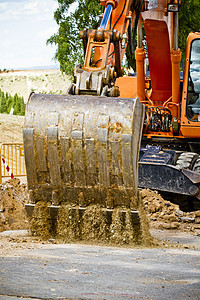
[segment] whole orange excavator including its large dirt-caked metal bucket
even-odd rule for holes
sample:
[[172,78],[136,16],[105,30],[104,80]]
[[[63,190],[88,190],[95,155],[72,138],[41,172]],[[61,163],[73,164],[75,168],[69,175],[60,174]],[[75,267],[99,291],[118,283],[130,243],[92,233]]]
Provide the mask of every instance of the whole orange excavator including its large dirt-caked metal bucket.
[[[99,28],[80,32],[85,61],[68,93],[31,94],[23,133],[27,211],[43,200],[54,212],[69,204],[82,218],[95,204],[111,216],[109,231],[116,208],[123,216],[130,210],[134,223],[138,181],[200,200],[200,34],[188,37],[182,78],[180,1],[101,4]],[[124,76],[122,59],[136,35],[137,74]]]

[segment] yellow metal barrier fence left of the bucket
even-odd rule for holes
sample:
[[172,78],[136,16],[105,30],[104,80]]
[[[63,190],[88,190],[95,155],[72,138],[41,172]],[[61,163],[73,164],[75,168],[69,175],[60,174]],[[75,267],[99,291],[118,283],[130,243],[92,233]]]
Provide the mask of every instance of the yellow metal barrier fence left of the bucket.
[[0,183],[2,178],[21,176],[26,176],[23,144],[0,144]]

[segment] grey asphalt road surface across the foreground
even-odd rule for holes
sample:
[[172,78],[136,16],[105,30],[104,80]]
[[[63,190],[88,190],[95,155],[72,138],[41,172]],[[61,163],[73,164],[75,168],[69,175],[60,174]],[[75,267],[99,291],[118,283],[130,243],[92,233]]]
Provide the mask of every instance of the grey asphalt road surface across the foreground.
[[0,255],[0,299],[20,297],[200,299],[200,251],[78,244],[13,247]]

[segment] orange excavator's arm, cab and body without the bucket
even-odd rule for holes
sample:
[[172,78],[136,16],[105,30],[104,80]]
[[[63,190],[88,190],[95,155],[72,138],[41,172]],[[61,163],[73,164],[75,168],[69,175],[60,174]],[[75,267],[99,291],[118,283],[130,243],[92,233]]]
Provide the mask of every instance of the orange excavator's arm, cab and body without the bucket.
[[[107,83],[102,81],[100,85],[102,90],[99,93],[111,97],[118,94],[122,98],[139,97],[140,103],[145,105],[139,186],[168,192],[174,196],[175,201],[180,198],[178,195],[182,195],[178,201],[181,208],[198,209],[200,208],[200,33],[189,34],[185,65],[182,63],[183,71],[180,72],[181,51],[178,48],[180,0],[115,1],[115,4],[112,1],[102,1],[102,4],[108,6],[106,13],[114,7],[104,29],[107,30],[106,34],[111,34],[109,31],[111,29],[112,35],[121,34],[121,47],[117,41],[105,42],[104,38],[103,42],[95,41],[94,31],[81,32],[80,37],[83,39],[86,53],[85,64],[82,68],[75,69],[75,83],[71,87],[71,92],[74,89],[76,94],[93,93],[92,82],[96,79],[93,80],[92,76],[96,76],[100,70],[109,68],[110,65],[114,66],[112,72],[111,69],[110,73],[107,70],[107,74],[112,75],[106,76],[109,78]],[[146,36],[145,45],[142,26]],[[127,45],[130,52],[133,52],[136,33],[137,73],[123,76],[122,57]],[[105,31],[101,29],[100,35],[103,34],[105,35]],[[88,82],[86,80],[88,76],[91,86],[80,87],[80,82],[84,84]]]

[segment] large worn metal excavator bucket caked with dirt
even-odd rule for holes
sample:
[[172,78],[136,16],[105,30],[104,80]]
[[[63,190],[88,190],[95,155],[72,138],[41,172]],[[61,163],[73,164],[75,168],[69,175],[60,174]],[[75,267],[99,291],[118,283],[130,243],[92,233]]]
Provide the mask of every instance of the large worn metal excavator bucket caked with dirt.
[[106,215],[107,231],[115,210],[121,212],[124,224],[127,214],[132,224],[139,224],[143,117],[138,98],[32,93],[23,130],[28,214],[42,202],[52,218],[59,219],[65,206],[71,217],[72,211],[79,213],[81,223],[87,209],[96,206]]

